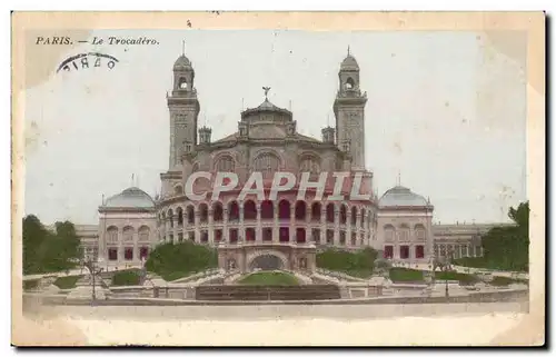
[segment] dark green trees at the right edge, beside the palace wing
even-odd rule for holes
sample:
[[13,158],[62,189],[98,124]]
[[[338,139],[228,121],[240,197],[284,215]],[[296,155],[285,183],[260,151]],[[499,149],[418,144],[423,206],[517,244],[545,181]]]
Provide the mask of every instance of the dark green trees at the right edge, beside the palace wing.
[[484,256],[461,258],[456,265],[495,270],[527,271],[529,266],[529,202],[510,208],[516,226],[494,227],[483,236]]

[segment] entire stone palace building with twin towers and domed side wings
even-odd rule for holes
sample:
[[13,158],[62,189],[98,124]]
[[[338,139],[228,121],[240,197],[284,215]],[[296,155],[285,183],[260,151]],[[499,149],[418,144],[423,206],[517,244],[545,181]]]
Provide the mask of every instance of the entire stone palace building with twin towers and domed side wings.
[[[339,66],[337,96],[330,103],[336,126],[324,128],[320,139],[297,132],[294,113],[265,98],[240,113],[236,132],[212,140],[210,128],[198,127],[202,96],[195,88],[193,66],[180,56],[167,96],[170,150],[169,169],[160,175],[161,192],[155,199],[131,187],[105,200],[98,226],[77,227],[85,254],[98,254],[107,265],[131,265],[158,244],[192,240],[218,247],[219,266],[241,271],[265,267],[314,270],[315,252],[325,247],[371,247],[407,262],[428,262],[435,251],[446,255],[453,250],[456,257],[480,255],[477,237],[487,226],[434,226],[430,201],[399,185],[380,198],[374,194],[373,173],[365,168],[367,98],[359,70],[348,53]],[[208,190],[208,195],[205,200],[190,201],[183,187],[196,171],[236,172],[238,190],[212,200],[209,182],[198,180],[196,190]],[[315,199],[315,192],[308,190],[298,200],[296,185],[275,200],[268,200],[268,194],[265,200],[257,196],[238,200],[242,184],[254,171],[261,172],[265,188],[276,171],[292,172],[298,180],[301,172],[310,172],[311,181],[324,171],[360,172],[360,192],[370,199],[346,195],[345,200],[327,201],[334,188],[329,175],[322,199]]]

